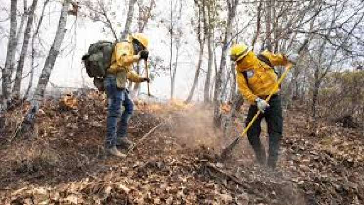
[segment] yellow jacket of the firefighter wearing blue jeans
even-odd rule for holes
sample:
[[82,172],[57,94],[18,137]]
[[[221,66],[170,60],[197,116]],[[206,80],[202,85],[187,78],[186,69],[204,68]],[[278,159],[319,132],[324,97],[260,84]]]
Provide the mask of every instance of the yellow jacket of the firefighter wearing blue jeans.
[[127,80],[141,82],[142,77],[132,70],[133,63],[140,59],[134,55],[134,48],[130,41],[122,41],[115,45],[114,53],[111,57],[111,65],[107,70],[108,74],[116,75],[118,88],[125,88]]

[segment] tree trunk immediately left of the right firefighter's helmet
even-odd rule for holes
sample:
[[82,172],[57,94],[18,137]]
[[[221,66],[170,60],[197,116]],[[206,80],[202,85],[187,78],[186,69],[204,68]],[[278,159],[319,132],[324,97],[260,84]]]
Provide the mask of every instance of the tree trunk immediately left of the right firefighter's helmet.
[[220,61],[220,68],[215,76],[215,90],[214,90],[214,125],[216,127],[220,126],[220,94],[221,94],[221,86],[222,86],[222,73],[224,71],[226,65],[226,55],[228,50],[228,37],[231,33],[232,23],[236,13],[236,6],[238,0],[233,0],[233,2],[227,1],[228,3],[228,21],[226,25],[226,30],[224,32],[224,41],[221,53],[221,61]]

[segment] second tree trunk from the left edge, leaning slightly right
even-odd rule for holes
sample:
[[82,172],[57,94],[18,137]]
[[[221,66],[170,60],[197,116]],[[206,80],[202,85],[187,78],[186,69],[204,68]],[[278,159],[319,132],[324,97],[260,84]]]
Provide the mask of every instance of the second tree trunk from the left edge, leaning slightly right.
[[14,87],[13,87],[13,91],[12,91],[15,98],[20,97],[22,72],[23,72],[23,68],[24,68],[26,51],[28,50],[30,32],[31,32],[31,28],[33,25],[33,19],[34,19],[33,17],[34,17],[34,12],[35,12],[35,8],[37,5],[37,1],[38,0],[33,0],[32,5],[30,6],[28,22],[26,23],[26,27],[25,27],[24,41],[23,41],[23,45],[21,47],[21,53],[19,56],[19,62],[18,62],[17,70],[16,70],[15,82],[14,82]]

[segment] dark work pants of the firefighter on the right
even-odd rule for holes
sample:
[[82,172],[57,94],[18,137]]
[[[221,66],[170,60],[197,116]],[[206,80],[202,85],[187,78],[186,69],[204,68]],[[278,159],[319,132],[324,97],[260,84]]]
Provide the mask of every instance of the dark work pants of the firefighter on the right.
[[[263,118],[267,122],[268,127],[268,166],[276,167],[279,152],[279,143],[282,138],[283,132],[283,116],[282,107],[280,103],[280,96],[274,95],[271,100],[269,100],[269,108],[264,112],[259,114],[255,122],[252,124],[247,132],[248,140],[250,145],[253,147],[256,154],[256,158],[260,164],[265,164],[266,154],[265,149],[260,141],[261,132],[261,122]],[[258,108],[255,105],[251,105],[248,111],[248,116],[245,121],[245,126],[249,124],[254,115],[257,113]]]

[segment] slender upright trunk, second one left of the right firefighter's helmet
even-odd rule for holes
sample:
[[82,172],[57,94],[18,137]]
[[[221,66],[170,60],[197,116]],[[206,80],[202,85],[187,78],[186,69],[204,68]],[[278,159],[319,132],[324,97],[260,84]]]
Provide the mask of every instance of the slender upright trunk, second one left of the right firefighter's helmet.
[[211,19],[211,5],[207,3],[207,17],[208,23],[205,24],[204,30],[207,38],[207,73],[206,73],[206,81],[205,81],[205,89],[204,89],[204,102],[210,102],[210,84],[211,84],[211,73],[212,73],[212,61],[213,61],[213,52],[211,49],[211,33],[212,33],[212,19]]

